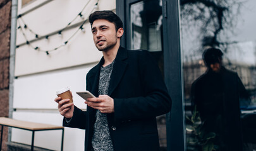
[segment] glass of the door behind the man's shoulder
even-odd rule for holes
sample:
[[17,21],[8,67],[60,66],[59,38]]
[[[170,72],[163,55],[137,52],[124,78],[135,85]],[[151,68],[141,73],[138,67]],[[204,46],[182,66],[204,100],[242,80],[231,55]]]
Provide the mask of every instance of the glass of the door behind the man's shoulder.
[[[161,69],[164,77],[164,58],[162,43],[162,1],[127,1],[128,26],[126,26],[128,40],[127,48],[130,50],[148,50]],[[157,117],[157,129],[161,150],[166,150],[166,115]]]

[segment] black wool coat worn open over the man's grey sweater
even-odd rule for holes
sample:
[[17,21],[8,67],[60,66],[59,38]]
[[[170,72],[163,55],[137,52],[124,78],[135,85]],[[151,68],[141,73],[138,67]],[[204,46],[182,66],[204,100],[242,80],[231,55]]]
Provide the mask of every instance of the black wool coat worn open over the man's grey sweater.
[[[87,74],[87,90],[96,97],[99,64]],[[114,99],[114,113],[107,114],[107,122],[114,150],[159,150],[155,116],[171,110],[171,98],[154,58],[145,50],[126,50],[120,47],[109,82],[109,96]],[[96,109],[87,111],[75,107],[70,123],[63,126],[85,129],[85,150],[92,149],[92,135]]]

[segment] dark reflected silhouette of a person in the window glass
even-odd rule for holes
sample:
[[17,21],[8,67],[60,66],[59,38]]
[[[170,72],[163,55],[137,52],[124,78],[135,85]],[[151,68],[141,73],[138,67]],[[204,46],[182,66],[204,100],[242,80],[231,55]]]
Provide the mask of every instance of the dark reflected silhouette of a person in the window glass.
[[217,48],[204,51],[207,71],[192,84],[192,106],[197,106],[205,133],[216,133],[217,150],[242,150],[240,98],[249,96],[238,74],[222,66],[222,55]]

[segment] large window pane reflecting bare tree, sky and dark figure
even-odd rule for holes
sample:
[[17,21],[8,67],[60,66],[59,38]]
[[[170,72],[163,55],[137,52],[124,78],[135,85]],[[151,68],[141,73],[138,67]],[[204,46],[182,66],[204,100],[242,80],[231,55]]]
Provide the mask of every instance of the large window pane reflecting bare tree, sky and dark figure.
[[[186,149],[256,150],[256,1],[180,0],[180,9]],[[211,54],[213,68],[208,48],[223,53]]]

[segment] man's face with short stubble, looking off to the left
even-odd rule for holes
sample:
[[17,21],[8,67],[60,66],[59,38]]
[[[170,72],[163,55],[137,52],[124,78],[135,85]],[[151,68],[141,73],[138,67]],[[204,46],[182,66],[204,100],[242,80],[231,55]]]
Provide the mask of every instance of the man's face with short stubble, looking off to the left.
[[95,20],[92,23],[92,35],[94,44],[100,51],[107,51],[118,42],[116,26],[107,20]]

